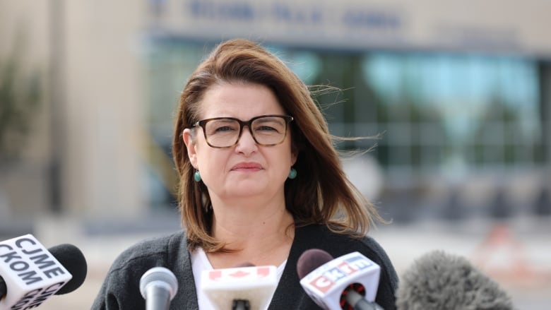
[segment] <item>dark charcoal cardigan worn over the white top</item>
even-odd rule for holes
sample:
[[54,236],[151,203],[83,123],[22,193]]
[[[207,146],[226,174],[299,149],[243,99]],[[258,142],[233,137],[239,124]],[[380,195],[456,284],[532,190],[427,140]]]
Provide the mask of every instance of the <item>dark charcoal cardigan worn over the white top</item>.
[[[386,310],[396,309],[394,292],[398,276],[388,256],[374,239],[355,239],[334,234],[323,225],[309,225],[295,229],[288,261],[268,310],[320,309],[304,292],[297,275],[297,260],[308,249],[322,249],[333,257],[352,251],[367,256],[381,266],[375,301]],[[178,279],[178,292],[172,299],[170,309],[199,309],[189,255],[184,232],[148,239],[131,246],[114,261],[91,309],[145,309],[139,289],[140,278],[156,266],[172,270]]]

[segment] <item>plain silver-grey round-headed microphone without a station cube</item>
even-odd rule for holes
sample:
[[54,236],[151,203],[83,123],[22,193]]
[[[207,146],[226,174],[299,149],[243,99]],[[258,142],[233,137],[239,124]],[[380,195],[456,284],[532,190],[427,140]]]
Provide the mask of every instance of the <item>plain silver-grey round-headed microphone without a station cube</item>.
[[141,276],[140,292],[147,310],[168,310],[177,290],[176,276],[165,267],[151,268]]

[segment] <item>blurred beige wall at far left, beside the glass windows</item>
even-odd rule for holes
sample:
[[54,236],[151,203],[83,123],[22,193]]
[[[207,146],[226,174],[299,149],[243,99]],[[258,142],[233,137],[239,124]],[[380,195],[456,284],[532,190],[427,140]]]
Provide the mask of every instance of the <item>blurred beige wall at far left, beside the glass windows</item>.
[[[25,32],[23,65],[42,74],[42,106],[22,159],[3,171],[1,208],[13,216],[48,208],[131,216],[141,187],[145,1],[0,1],[0,55]],[[57,166],[61,196],[50,179]],[[54,173],[55,175],[55,173]]]

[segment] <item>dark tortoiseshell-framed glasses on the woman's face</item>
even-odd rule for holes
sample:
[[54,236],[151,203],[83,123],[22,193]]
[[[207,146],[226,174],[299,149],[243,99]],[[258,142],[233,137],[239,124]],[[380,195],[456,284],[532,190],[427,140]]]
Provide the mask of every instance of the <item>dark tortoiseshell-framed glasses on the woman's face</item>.
[[285,140],[288,124],[292,120],[288,115],[261,115],[248,121],[234,117],[214,117],[198,121],[191,127],[201,126],[205,140],[212,148],[230,148],[236,145],[244,126],[249,128],[256,144],[271,146]]

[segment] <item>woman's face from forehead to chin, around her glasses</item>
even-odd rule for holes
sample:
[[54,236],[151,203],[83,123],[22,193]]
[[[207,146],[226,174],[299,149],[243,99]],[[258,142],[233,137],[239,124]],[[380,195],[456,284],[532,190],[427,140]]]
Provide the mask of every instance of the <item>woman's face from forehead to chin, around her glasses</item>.
[[[200,119],[234,117],[248,121],[267,114],[285,115],[272,91],[253,83],[214,85],[203,95],[200,105]],[[289,129],[283,143],[263,146],[256,144],[248,127],[244,127],[239,141],[230,148],[211,148],[203,129],[194,130],[194,138],[190,129],[184,131],[184,143],[191,165],[199,170],[211,198],[283,198],[285,179],[296,160]]]

